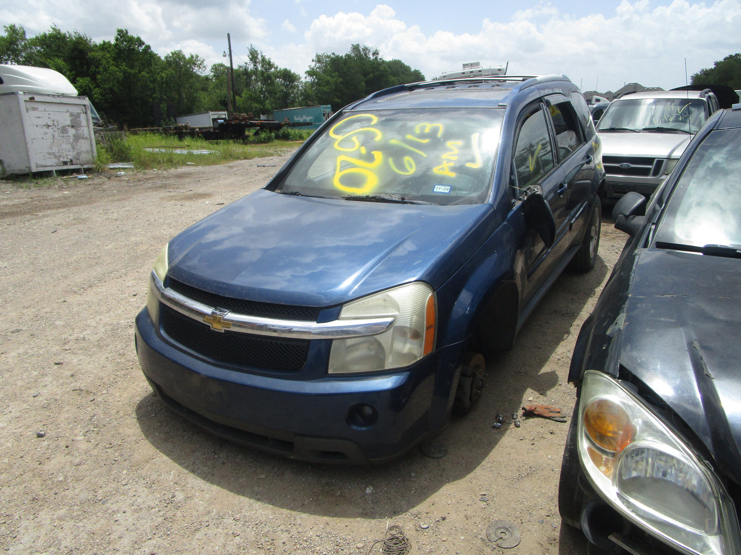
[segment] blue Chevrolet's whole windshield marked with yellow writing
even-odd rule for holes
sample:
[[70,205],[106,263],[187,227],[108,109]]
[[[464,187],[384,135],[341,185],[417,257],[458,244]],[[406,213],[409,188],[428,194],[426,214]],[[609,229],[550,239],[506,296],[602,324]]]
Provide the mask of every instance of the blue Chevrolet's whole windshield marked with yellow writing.
[[276,192],[372,202],[488,199],[501,109],[346,112],[290,168]]

